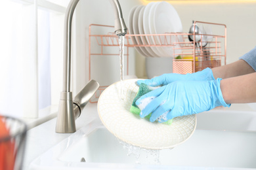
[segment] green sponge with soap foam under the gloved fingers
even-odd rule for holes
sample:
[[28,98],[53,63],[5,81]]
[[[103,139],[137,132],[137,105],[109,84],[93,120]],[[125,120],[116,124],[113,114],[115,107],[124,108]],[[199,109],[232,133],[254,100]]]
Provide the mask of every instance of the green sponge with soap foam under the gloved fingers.
[[[139,87],[139,91],[137,93],[137,95],[135,96],[135,98],[133,99],[133,103],[131,105],[131,108],[130,108],[130,112],[132,112],[133,114],[137,114],[137,115],[140,115],[140,109],[139,107],[136,105],[136,101],[137,99],[139,99],[142,95],[148,93],[148,92],[151,92],[152,90],[154,90],[154,88],[144,84],[144,83],[141,83],[140,84],[140,87]],[[150,116],[151,116],[152,113],[148,114],[148,116],[145,116],[145,118],[147,120],[150,119]],[[171,123],[173,122],[173,120],[167,120],[167,122],[164,122],[163,124],[168,124],[168,125],[171,125]]]

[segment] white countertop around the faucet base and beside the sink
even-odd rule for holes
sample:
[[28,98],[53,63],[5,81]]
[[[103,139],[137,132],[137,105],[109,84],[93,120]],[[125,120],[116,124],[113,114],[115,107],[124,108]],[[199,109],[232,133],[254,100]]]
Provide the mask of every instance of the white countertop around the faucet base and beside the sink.
[[[95,118],[98,118],[98,112],[96,109],[97,103],[88,103],[83,110],[81,116],[75,121],[76,129],[80,129]],[[49,108],[51,110],[51,108]],[[48,111],[49,111],[48,109]],[[56,106],[52,108],[56,110]],[[247,104],[233,104],[230,108],[224,108],[225,110],[244,110],[253,111]],[[48,120],[48,121],[47,121]],[[27,121],[27,120],[26,120]],[[43,121],[47,121],[43,123]],[[38,125],[38,126],[37,126]],[[30,163],[38,156],[49,150],[49,148],[60,143],[60,141],[66,139],[72,135],[72,133],[56,133],[56,112],[45,115],[38,120],[29,120],[28,126],[30,129],[27,133],[26,152],[24,157],[24,170],[29,169]],[[35,127],[33,127],[35,126]]]

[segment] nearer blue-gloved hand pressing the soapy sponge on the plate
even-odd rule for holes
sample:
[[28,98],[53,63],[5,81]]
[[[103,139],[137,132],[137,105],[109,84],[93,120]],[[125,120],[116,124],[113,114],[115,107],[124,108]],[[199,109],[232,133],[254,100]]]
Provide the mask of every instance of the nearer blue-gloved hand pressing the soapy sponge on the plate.
[[[151,122],[156,119],[166,122],[177,116],[196,114],[219,106],[230,107],[224,102],[221,80],[176,81],[146,93],[136,101],[138,106],[146,105],[140,117],[144,118],[152,112]],[[145,104],[148,101],[150,103]]]

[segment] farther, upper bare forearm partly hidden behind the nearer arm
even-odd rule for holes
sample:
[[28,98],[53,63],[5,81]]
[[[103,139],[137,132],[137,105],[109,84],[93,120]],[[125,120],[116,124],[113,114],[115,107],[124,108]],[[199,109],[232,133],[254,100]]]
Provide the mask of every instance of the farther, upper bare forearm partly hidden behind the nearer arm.
[[221,67],[215,67],[211,69],[213,71],[214,78],[230,78],[233,76],[247,75],[254,73],[254,69],[246,63],[243,59],[239,59],[234,63],[223,65]]

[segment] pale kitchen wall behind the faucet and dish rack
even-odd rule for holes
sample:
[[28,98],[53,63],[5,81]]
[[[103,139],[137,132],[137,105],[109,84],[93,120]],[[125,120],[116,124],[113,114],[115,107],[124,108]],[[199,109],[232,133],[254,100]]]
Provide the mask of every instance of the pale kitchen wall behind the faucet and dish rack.
[[[150,1],[148,1],[150,2]],[[135,5],[146,5],[147,1],[119,0],[123,18],[128,23],[129,11]],[[215,22],[227,26],[227,63],[236,61],[255,46],[256,3],[177,3],[175,7],[182,21],[183,31],[188,32],[192,20]],[[73,57],[73,92],[77,93],[89,80],[89,24],[114,25],[114,13],[106,0],[83,0],[75,11],[75,39]],[[116,49],[118,50],[118,48]],[[129,50],[129,74],[144,76],[144,58],[134,49]],[[135,58],[136,56],[136,58]],[[139,59],[139,61],[137,61]],[[136,63],[136,64],[135,64]],[[93,73],[100,84],[108,85],[119,80],[118,56],[95,56],[92,61]],[[75,94],[74,94],[75,95]]]

